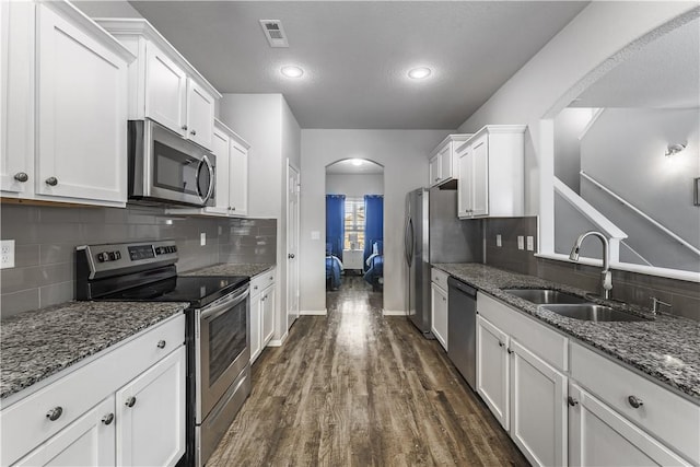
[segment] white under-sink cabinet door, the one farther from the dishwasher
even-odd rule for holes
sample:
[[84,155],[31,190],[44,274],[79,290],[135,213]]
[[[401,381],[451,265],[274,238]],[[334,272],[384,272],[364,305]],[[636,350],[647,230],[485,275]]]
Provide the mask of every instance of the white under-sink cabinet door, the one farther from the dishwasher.
[[511,339],[511,437],[533,465],[567,465],[567,378]]

